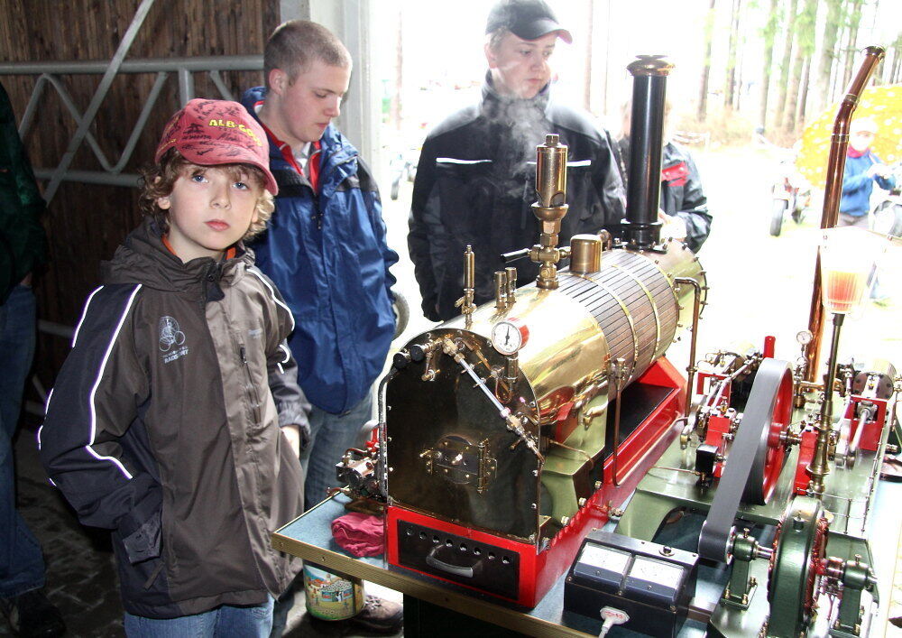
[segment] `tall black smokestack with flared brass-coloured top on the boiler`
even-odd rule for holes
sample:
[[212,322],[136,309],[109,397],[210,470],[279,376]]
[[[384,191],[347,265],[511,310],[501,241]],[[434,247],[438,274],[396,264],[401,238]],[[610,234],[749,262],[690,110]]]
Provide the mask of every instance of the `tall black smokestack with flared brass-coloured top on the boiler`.
[[640,55],[627,70],[632,80],[630,179],[627,183],[623,241],[641,250],[658,244],[661,222],[661,153],[664,147],[664,101],[673,65],[660,55]]

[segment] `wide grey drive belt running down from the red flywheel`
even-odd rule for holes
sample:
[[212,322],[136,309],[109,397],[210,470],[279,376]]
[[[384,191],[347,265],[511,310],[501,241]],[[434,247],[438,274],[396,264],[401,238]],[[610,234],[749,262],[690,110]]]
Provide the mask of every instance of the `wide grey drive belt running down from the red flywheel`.
[[762,433],[773,421],[780,384],[788,370],[786,361],[767,358],[761,361],[758,374],[755,374],[739,430],[730,446],[730,455],[698,538],[698,553],[706,559],[729,561],[728,549],[736,512],[759,452]]

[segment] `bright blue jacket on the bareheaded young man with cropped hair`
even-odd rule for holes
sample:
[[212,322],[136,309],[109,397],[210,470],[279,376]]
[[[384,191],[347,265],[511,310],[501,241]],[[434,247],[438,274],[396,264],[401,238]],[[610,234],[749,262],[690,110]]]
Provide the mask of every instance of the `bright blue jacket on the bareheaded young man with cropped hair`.
[[[251,88],[242,103],[253,114],[265,95]],[[398,254],[385,242],[379,190],[357,150],[333,125],[320,143],[319,193],[270,144],[279,195],[253,249],[294,315],[300,387],[318,408],[340,414],[382,372],[395,328],[389,268]]]

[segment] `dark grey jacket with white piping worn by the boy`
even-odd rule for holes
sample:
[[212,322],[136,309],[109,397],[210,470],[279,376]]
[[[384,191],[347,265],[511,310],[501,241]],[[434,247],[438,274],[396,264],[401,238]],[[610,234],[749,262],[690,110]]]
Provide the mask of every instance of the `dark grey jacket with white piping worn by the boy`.
[[129,613],[278,596],[300,561],[270,534],[303,511],[278,426],[308,428],[309,408],[290,312],[253,254],[182,264],[149,220],[105,271],[38,433],[48,475],[81,522],[113,531]]

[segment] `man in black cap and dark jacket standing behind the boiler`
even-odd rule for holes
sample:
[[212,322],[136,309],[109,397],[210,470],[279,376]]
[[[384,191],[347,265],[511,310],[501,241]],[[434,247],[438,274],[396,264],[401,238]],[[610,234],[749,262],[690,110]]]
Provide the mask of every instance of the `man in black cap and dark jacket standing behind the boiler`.
[[[548,64],[557,39],[573,38],[541,0],[504,0],[486,24],[482,101],[448,117],[423,143],[413,187],[408,245],[423,313],[428,319],[459,314],[464,249],[476,253],[475,301],[494,293],[498,255],[530,247],[539,225],[536,145],[546,134],[569,146],[567,204],[561,244],[579,233],[618,225],[624,194],[610,135],[590,116],[549,100]],[[520,260],[517,284],[534,281],[538,265]]]

